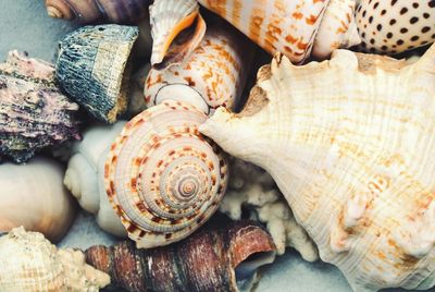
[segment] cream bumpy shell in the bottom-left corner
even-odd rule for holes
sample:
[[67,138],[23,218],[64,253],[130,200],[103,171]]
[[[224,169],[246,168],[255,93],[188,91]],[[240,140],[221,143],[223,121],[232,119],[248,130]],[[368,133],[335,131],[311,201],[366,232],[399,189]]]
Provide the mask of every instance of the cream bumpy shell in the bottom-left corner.
[[79,251],[58,250],[37,232],[16,228],[0,238],[0,290],[4,292],[99,291],[107,273]]

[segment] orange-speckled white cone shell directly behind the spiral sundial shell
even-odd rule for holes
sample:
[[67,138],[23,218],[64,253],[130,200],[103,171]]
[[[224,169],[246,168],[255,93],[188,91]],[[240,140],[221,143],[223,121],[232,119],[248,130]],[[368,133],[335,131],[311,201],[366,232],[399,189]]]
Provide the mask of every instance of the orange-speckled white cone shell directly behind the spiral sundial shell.
[[235,109],[253,59],[254,50],[246,52],[248,46],[247,39],[227,25],[209,27],[185,64],[150,70],[145,83],[147,106],[176,99],[206,114],[220,106]]

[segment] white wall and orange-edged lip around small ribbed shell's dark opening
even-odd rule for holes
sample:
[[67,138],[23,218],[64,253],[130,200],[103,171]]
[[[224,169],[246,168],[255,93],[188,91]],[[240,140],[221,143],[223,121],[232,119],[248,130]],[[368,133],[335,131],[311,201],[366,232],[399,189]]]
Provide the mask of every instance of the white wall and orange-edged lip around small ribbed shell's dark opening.
[[202,17],[199,15],[199,5],[197,1],[154,0],[150,5],[152,36],[151,65],[163,62],[173,40],[184,28],[191,26],[195,21],[200,22],[197,23],[197,28],[199,31],[195,34],[195,37],[186,44],[186,56],[190,54],[206,34],[206,25]]

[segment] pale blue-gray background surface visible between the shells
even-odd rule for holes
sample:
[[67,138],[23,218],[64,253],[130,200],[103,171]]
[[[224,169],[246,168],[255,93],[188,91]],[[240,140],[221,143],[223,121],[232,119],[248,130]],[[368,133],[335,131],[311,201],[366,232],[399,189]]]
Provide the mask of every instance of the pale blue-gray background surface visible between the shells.
[[[0,0],[0,60],[12,49],[53,61],[57,42],[76,25],[47,16],[44,0]],[[94,218],[82,212],[66,238],[59,244],[86,248],[111,244],[116,239],[102,232]],[[257,291],[351,291],[335,267],[318,261],[306,263],[293,251],[281,256],[262,273]],[[397,290],[396,290],[397,291]]]

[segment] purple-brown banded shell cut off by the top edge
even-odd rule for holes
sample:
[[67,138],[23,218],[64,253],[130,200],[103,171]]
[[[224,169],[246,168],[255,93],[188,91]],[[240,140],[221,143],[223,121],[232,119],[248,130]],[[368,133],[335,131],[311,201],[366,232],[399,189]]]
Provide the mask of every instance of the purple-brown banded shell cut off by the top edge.
[[78,23],[130,24],[147,15],[151,0],[46,0],[50,17]]

